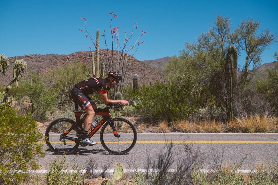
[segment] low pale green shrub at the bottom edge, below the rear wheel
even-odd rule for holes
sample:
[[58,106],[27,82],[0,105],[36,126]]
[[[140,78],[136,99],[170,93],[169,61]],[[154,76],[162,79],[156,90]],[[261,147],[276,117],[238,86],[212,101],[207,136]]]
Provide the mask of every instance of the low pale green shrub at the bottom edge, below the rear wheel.
[[83,176],[81,175],[81,169],[74,166],[74,172],[65,172],[69,164],[66,164],[66,157],[58,158],[50,163],[50,168],[46,174],[47,185],[77,185],[83,184]]

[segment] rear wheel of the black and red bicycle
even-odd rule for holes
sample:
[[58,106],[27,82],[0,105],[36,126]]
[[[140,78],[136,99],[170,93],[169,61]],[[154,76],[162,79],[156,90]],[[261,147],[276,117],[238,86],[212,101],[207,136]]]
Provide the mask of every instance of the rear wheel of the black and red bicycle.
[[[60,141],[60,135],[65,133],[65,131],[67,131],[73,124],[76,124],[74,120],[68,118],[59,118],[52,121],[48,125],[45,131],[45,142],[51,151],[56,154],[70,154],[78,148],[80,145],[79,142],[75,143],[71,140],[65,140],[65,142]],[[77,141],[81,134],[81,129],[79,127],[75,127],[73,130],[67,133],[67,136],[74,137]]]

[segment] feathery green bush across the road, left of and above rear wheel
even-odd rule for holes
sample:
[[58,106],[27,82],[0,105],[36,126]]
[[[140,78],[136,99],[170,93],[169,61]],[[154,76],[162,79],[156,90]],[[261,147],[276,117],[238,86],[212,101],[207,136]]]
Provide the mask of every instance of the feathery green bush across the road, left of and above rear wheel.
[[58,103],[56,91],[45,87],[41,75],[34,72],[30,73],[30,80],[25,78],[21,82],[21,89],[21,96],[27,96],[31,102],[21,102],[21,106],[37,120],[45,120],[46,113],[54,109]]

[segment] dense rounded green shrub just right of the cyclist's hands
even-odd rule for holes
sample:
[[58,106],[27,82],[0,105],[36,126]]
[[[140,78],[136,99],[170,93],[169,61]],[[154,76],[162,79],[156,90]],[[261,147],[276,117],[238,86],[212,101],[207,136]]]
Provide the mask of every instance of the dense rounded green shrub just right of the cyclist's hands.
[[155,121],[186,119],[200,107],[197,96],[189,86],[175,84],[156,83],[153,87],[140,90],[136,99],[137,113]]

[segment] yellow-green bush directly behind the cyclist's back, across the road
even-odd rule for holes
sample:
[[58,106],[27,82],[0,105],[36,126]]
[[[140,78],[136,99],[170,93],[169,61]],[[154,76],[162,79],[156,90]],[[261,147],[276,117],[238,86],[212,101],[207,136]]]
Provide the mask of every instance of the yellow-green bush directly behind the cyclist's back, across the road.
[[72,87],[78,82],[88,78],[90,69],[88,65],[74,61],[74,63],[60,66],[49,71],[45,76],[45,81],[57,92],[62,105],[71,102],[70,92]]

